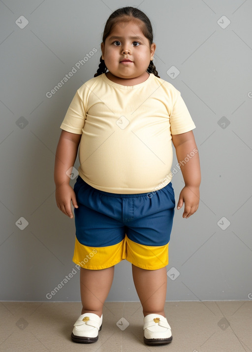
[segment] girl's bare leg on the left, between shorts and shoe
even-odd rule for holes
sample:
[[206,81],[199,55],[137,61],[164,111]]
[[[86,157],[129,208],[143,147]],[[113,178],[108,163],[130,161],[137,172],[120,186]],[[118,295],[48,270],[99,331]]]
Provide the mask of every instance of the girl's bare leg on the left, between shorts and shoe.
[[80,287],[82,312],[101,317],[103,304],[108,296],[114,277],[114,267],[101,270],[81,268]]

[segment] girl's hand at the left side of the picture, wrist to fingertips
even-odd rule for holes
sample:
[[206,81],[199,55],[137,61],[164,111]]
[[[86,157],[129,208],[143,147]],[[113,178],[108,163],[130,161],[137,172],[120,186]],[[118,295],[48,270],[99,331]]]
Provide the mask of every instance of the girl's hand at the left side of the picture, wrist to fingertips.
[[56,188],[55,196],[58,208],[72,219],[73,213],[71,209],[71,201],[74,208],[78,208],[75,192],[72,187],[69,184],[63,183],[61,186]]

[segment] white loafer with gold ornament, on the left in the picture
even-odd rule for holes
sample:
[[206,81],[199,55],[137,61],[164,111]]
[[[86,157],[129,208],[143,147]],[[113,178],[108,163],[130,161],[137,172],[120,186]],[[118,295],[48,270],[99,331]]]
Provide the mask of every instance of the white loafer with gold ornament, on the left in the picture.
[[73,325],[71,339],[74,342],[90,344],[98,340],[98,331],[102,327],[102,315],[94,313],[82,314]]

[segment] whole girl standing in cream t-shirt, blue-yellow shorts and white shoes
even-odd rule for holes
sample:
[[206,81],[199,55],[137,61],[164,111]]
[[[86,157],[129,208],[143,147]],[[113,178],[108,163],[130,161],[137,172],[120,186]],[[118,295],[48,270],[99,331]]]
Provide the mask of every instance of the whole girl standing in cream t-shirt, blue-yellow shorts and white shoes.
[[[185,181],[177,209],[196,212],[200,168],[195,125],[174,86],[159,78],[148,17],[124,7],[109,17],[95,77],[76,92],[64,117],[56,152],[56,201],[73,218],[74,263],[80,265],[82,312],[72,340],[98,339],[102,307],[114,266],[132,263],[143,307],[144,342],[168,344],[165,318],[168,244],[175,208],[171,184],[172,143]],[[67,170],[79,149],[74,190]]]

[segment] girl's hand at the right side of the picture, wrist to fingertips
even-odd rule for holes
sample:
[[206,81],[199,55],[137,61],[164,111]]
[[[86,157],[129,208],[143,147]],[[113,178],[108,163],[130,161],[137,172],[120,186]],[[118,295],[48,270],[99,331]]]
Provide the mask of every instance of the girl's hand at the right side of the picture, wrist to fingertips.
[[199,206],[199,187],[185,186],[179,195],[177,209],[180,209],[185,202],[183,217],[189,218],[196,212]]

